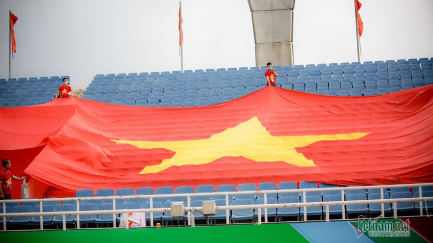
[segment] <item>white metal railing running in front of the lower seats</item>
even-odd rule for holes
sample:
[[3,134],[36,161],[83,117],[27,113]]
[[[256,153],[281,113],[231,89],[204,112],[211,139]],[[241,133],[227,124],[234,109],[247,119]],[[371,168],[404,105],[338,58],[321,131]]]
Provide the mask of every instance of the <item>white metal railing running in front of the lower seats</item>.
[[[75,215],[76,217],[76,225],[77,228],[80,228],[80,217],[79,215],[93,215],[93,214],[113,214],[113,227],[116,228],[117,218],[115,215],[123,214],[123,213],[145,213],[150,214],[150,225],[154,226],[154,218],[153,213],[157,212],[170,212],[170,208],[153,208],[153,200],[154,198],[176,198],[176,197],[186,197],[187,205],[184,207],[184,211],[187,213],[187,221],[188,225],[194,226],[194,211],[202,211],[203,207],[190,207],[190,197],[191,196],[225,196],[225,206],[216,206],[216,210],[225,210],[226,211],[226,223],[230,224],[229,218],[229,210],[235,209],[257,209],[258,216],[258,224],[261,224],[261,210],[264,210],[264,218],[265,223],[268,222],[267,217],[267,209],[269,208],[288,208],[288,207],[303,207],[304,215],[303,220],[307,221],[307,207],[325,207],[325,221],[330,221],[329,216],[329,206],[341,206],[342,219],[345,219],[345,207],[347,205],[359,205],[359,204],[381,204],[381,217],[385,217],[384,212],[384,204],[391,203],[393,204],[393,217],[397,218],[397,203],[402,202],[414,202],[419,203],[419,216],[424,216],[424,208],[423,202],[433,201],[433,197],[423,197],[422,196],[422,187],[425,186],[433,186],[433,183],[422,183],[422,184],[401,184],[401,185],[387,185],[387,186],[357,186],[357,187],[332,187],[332,188],[314,188],[314,189],[280,189],[280,190],[255,190],[255,191],[233,191],[233,192],[207,192],[207,193],[185,193],[185,194],[152,194],[152,195],[130,195],[130,196],[105,196],[105,197],[68,197],[68,198],[45,198],[45,199],[12,199],[12,200],[0,200],[0,205],[3,207],[3,212],[0,212],[0,217],[3,217],[3,231],[6,231],[6,218],[10,218],[13,216],[33,216],[40,217],[40,221],[43,222],[43,216],[59,216],[62,215],[63,223],[62,228],[66,230],[65,216],[67,215]],[[412,198],[394,198],[394,199],[383,199],[383,193],[387,192],[388,188],[408,188],[408,187],[418,187],[419,197]],[[353,201],[345,201],[344,194],[345,190],[357,190],[357,189],[381,189],[381,199],[368,199],[368,200],[353,200]],[[340,191],[341,192],[341,201],[332,201],[332,202],[306,202],[306,192],[310,191]],[[289,203],[289,204],[267,204],[267,195],[270,193],[288,193],[288,192],[298,192],[302,193],[304,201],[299,203]],[[252,204],[252,205],[238,205],[233,206],[229,204],[229,195],[245,195],[245,194],[264,194],[264,204]],[[139,199],[139,198],[148,198],[150,201],[150,209],[121,209],[116,210],[116,200],[119,199]],[[80,202],[82,201],[92,201],[92,200],[113,200],[113,210],[96,210],[96,211],[80,211]],[[6,213],[6,203],[14,203],[14,202],[38,202],[40,205],[40,209],[42,211],[42,206],[44,202],[47,201],[75,201],[76,202],[76,211],[68,211],[68,212],[31,212],[31,213]],[[128,214],[125,214],[126,218],[124,220],[128,221]],[[429,215],[428,215],[429,216]],[[127,227],[127,223],[125,224]],[[43,230],[43,223],[40,223],[40,229]]]

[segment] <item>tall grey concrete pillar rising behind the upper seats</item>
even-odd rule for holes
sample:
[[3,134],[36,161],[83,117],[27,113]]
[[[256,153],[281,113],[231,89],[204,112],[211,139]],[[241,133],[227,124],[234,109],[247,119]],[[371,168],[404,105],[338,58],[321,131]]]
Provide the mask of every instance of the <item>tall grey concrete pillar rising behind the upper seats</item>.
[[295,0],[248,0],[254,29],[255,64],[294,65]]

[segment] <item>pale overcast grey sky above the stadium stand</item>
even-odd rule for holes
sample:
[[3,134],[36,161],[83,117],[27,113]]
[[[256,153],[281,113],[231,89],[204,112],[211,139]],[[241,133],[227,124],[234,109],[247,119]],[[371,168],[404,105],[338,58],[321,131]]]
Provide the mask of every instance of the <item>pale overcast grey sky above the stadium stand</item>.
[[[432,0],[360,0],[361,62],[433,57]],[[0,79],[181,70],[178,0],[0,0]],[[255,66],[247,0],[183,0],[184,70]],[[283,28],[283,27],[281,27]],[[296,0],[295,65],[358,60],[353,0]],[[272,60],[270,60],[272,62]],[[276,65],[277,63],[274,63]]]

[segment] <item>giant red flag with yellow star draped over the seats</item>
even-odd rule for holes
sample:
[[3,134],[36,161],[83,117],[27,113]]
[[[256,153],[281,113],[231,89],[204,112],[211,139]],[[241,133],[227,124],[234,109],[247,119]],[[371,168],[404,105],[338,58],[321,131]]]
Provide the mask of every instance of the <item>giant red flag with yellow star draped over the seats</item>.
[[432,114],[433,85],[372,97],[269,86],[190,108],[73,97],[0,108],[0,154],[21,160],[14,164],[25,164],[32,178],[70,191],[432,182]]

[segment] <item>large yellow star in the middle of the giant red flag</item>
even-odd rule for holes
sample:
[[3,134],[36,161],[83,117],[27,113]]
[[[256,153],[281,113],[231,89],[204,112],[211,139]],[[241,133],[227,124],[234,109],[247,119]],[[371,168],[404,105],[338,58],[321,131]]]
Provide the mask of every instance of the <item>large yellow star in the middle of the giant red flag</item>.
[[295,148],[305,147],[317,141],[353,140],[369,134],[273,136],[266,131],[257,117],[253,117],[208,139],[163,142],[115,139],[111,141],[131,144],[141,149],[165,148],[175,152],[172,158],[164,159],[160,164],[146,166],[140,172],[146,174],[160,172],[171,166],[207,164],[219,158],[239,156],[255,162],[280,161],[297,166],[316,166]]

